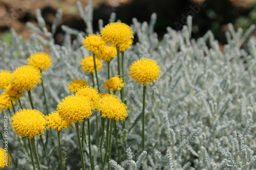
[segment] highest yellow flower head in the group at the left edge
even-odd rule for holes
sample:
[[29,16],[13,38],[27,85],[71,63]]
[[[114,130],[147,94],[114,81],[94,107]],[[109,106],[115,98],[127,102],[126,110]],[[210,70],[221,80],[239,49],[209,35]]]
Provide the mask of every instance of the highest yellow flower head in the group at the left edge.
[[34,53],[28,59],[28,64],[39,70],[47,70],[52,65],[52,58],[46,53]]

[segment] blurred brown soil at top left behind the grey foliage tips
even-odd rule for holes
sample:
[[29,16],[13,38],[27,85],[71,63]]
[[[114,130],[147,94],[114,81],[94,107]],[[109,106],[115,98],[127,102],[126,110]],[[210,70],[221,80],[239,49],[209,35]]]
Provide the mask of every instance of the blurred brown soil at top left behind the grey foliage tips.
[[[50,29],[54,15],[58,8],[62,8],[63,16],[60,22],[72,22],[79,20],[80,15],[77,9],[78,0],[1,0],[0,1],[0,38],[1,35],[14,28],[15,31],[25,39],[31,36],[31,32],[26,27],[26,22],[30,21],[37,25],[36,9],[40,9],[42,16],[46,20]],[[86,7],[88,1],[80,1],[82,7]],[[93,0],[94,8],[104,4],[107,6],[119,6],[131,2],[131,0]]]

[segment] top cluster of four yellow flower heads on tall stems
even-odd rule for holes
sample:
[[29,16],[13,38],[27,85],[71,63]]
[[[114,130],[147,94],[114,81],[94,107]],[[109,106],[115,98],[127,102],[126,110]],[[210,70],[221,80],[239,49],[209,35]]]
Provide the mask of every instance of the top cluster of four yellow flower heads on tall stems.
[[[96,54],[96,66],[99,71],[102,67],[100,59],[103,61],[111,61],[117,55],[116,47],[120,51],[125,51],[127,48],[131,48],[133,43],[133,31],[131,27],[125,23],[112,22],[106,25],[100,35],[91,34],[84,38],[83,46]],[[84,57],[81,62],[81,69],[86,69],[85,72],[94,72],[93,59]]]

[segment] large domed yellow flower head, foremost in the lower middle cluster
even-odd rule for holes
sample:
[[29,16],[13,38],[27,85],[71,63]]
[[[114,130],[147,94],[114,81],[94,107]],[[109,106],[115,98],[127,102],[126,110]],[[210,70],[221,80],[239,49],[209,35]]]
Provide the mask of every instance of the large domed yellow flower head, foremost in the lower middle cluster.
[[69,95],[57,105],[59,116],[69,124],[83,122],[84,118],[92,115],[92,103],[87,97],[81,95]]

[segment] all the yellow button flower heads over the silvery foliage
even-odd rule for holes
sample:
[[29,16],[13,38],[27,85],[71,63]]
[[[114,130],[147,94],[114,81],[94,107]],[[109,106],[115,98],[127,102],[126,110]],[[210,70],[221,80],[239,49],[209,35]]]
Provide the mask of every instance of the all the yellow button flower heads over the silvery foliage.
[[[133,38],[132,29],[121,22],[105,26],[100,35],[86,36],[82,41],[83,46],[92,52],[92,56],[82,59],[81,69],[85,69],[86,73],[96,72],[97,76],[97,71],[100,71],[103,65],[101,60],[109,64],[115,56],[119,57],[120,52],[131,48]],[[42,82],[41,71],[47,70],[51,65],[52,59],[48,54],[34,53],[28,59],[28,65],[17,67],[13,72],[2,70],[0,72],[0,89],[4,89],[4,92],[0,95],[0,110],[10,109],[23,96],[24,91],[30,92],[36,88],[37,84]],[[160,72],[161,68],[156,61],[143,58],[130,66],[129,76],[136,83],[145,86],[158,80]],[[104,86],[109,93],[113,92],[106,94],[99,93],[99,89],[89,86],[87,81],[73,80],[67,85],[67,88],[75,94],[62,99],[57,105],[56,111],[45,115],[39,110],[33,109],[32,105],[32,109],[20,109],[15,112],[11,117],[10,124],[17,135],[33,139],[44,134],[46,128],[53,128],[59,132],[62,129],[70,128],[70,124],[84,122],[85,118],[91,117],[93,111],[100,112],[101,117],[104,118],[125,120],[129,110],[121,100],[122,93],[120,93],[121,99],[115,95],[115,92],[120,91],[124,85],[120,75],[112,77],[104,82]]]

